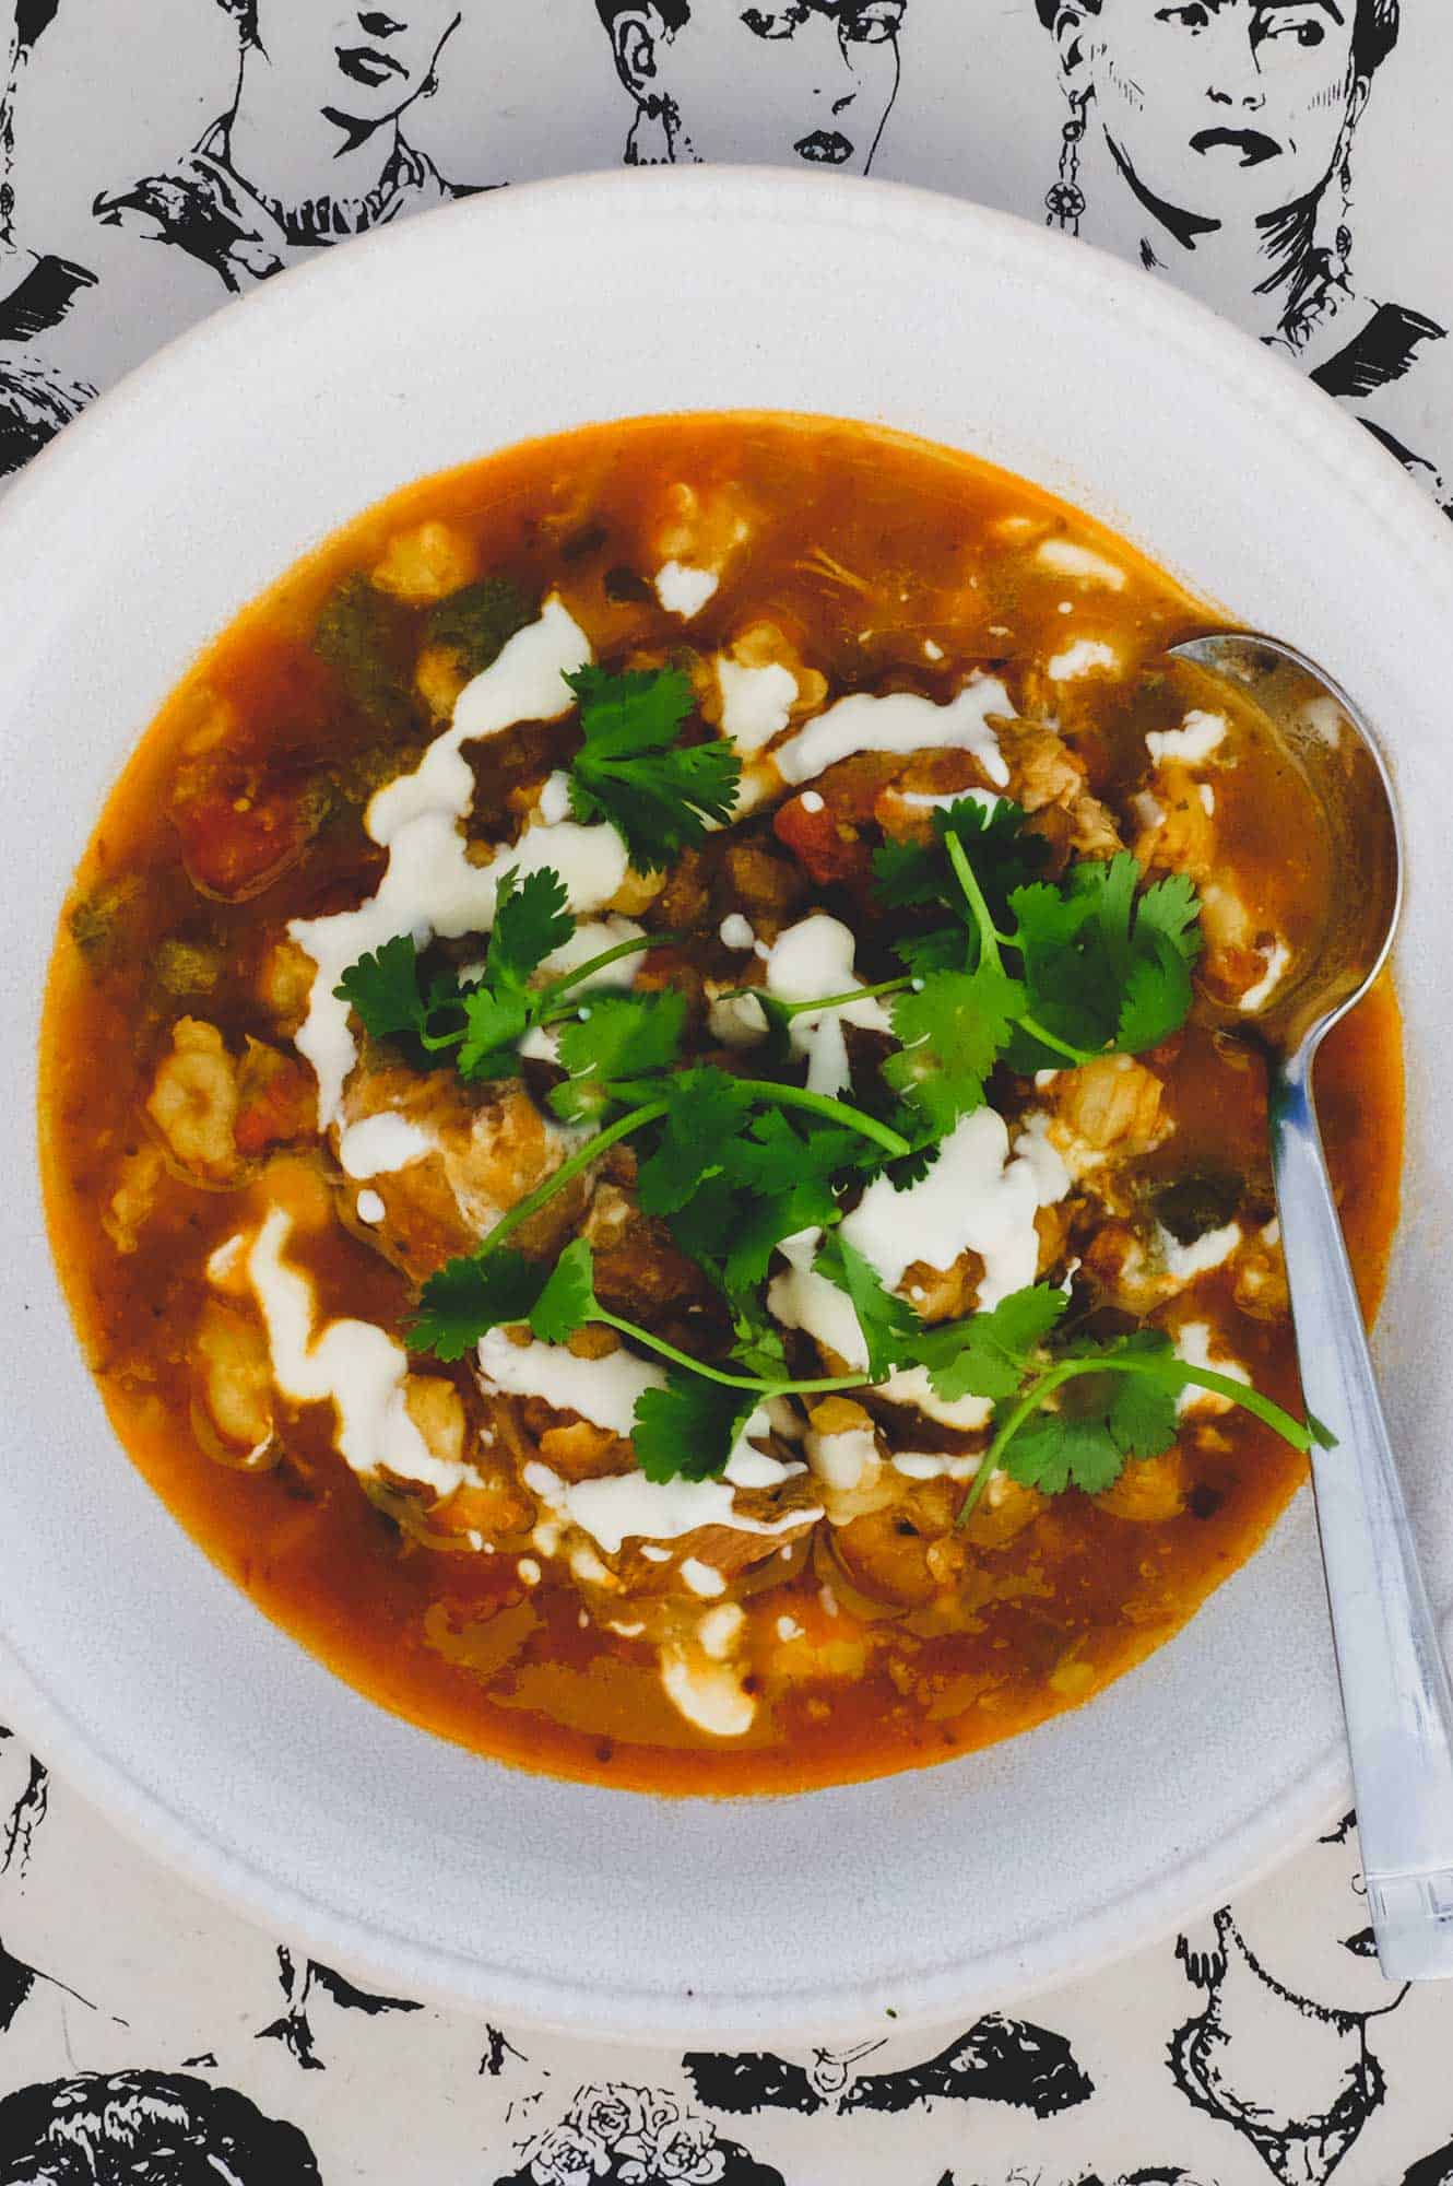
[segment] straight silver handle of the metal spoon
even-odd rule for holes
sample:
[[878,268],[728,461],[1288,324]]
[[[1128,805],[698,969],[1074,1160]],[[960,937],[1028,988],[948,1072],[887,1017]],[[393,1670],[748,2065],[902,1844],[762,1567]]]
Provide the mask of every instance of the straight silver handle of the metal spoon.
[[1453,1978],[1453,1692],[1372,1377],[1311,1097],[1311,1051],[1272,1073],[1272,1165],[1357,1825],[1387,1981]]

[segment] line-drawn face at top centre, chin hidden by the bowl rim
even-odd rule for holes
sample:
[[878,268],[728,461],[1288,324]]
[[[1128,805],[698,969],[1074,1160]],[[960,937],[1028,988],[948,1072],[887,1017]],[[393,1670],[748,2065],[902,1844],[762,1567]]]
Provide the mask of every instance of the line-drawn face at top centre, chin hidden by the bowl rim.
[[898,92],[907,0],[625,7],[616,66],[677,160],[867,171]]

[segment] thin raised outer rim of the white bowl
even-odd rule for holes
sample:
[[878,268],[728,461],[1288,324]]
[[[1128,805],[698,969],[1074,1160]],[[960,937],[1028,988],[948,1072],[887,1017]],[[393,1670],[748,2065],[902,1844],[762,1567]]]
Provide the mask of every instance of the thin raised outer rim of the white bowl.
[[[1396,461],[1363,433],[1337,404],[1315,389],[1283,356],[1261,348],[1230,321],[1215,315],[1182,291],[1154,280],[1110,254],[1082,240],[1038,227],[1016,214],[990,210],[968,199],[913,188],[907,184],[865,181],[819,175],[793,175],[776,168],[664,168],[566,175],[513,186],[441,208],[435,223],[470,223],[487,247],[494,225],[516,225],[538,208],[557,214],[572,205],[618,199],[614,216],[629,221],[682,216],[699,221],[793,219],[798,210],[817,225],[846,225],[867,238],[891,236],[911,225],[918,236],[933,232],[948,245],[959,238],[979,254],[1012,260],[1016,271],[1066,295],[1095,293],[1099,310],[1123,299],[1134,313],[1154,319],[1178,343],[1193,341],[1208,367],[1232,383],[1237,396],[1261,404],[1263,422],[1272,422],[1313,461],[1324,461],[1333,444],[1344,487],[1361,503],[1370,527],[1392,538],[1398,553],[1420,566],[1438,586],[1453,614],[1453,533],[1425,492],[1407,479]],[[439,230],[435,227],[433,234]],[[267,282],[218,313],[179,334],[146,363],[103,396],[85,415],[44,450],[7,494],[7,531],[24,531],[44,522],[50,501],[66,501],[83,479],[94,444],[105,444],[127,431],[129,418],[153,409],[170,389],[186,393],[188,376],[214,352],[238,352],[243,343],[264,341],[269,324],[286,324],[304,293],[312,308],[326,302],[330,284],[336,291],[374,273],[382,280],[391,256],[415,247],[415,223],[376,230],[356,238],[343,254],[326,254],[304,267]],[[367,256],[371,254],[371,256]],[[81,1360],[76,1358],[76,1368]],[[83,1371],[83,1368],[81,1368]],[[371,1926],[358,1915],[345,1915],[317,1897],[293,1889],[282,1878],[253,1867],[247,1858],[212,1843],[201,1827],[186,1821],[164,1799],[142,1788],[118,1753],[98,1744],[72,1720],[63,1699],[50,1690],[39,1668],[24,1657],[22,1637],[4,1629],[0,1605],[0,1670],[7,1685],[7,1714],[26,1736],[35,1738],[48,1762],[116,1821],[144,1849],[162,1856],[201,1889],[221,1895],[249,1919],[264,1926],[286,1924],[297,1935],[317,1941],[330,1959],[371,1970],[411,1991],[450,2005],[492,2009],[542,2029],[581,2035],[601,2026],[610,2007],[607,2033],[621,2042],[680,2042],[710,2033],[714,2040],[754,2042],[767,2033],[791,2037],[811,2022],[813,2033],[861,2029],[881,2009],[876,1987],[848,1994],[841,1985],[826,1996],[793,1994],[791,2000],[763,2005],[747,1994],[677,2000],[664,2018],[658,1989],[618,1989],[605,1998],[599,1989],[577,1989],[555,1978],[520,1978],[492,1967],[476,1956],[452,1954],[404,1941],[391,1930]],[[1101,1902],[1075,1926],[1075,1950],[1053,1950],[1040,1930],[1023,1950],[1005,1954],[996,1998],[1031,1996],[1084,1978],[1097,1967],[1171,1930],[1178,1921],[1204,1913],[1232,1891],[1276,1869],[1304,1836],[1324,1827],[1350,1803],[1350,1777],[1339,1742],[1326,1747],[1315,1762],[1278,1799],[1269,1801],[1215,1847],[1180,1856],[1160,1873],[1154,1887],[1134,1889]],[[640,1795],[636,1795],[640,1797]],[[1127,1908],[1134,1921],[1127,1926]],[[972,1987],[983,2005],[983,1983],[966,1983],[964,1972],[937,1967],[898,1983],[896,2029],[946,2022],[964,2009],[964,1991]]]

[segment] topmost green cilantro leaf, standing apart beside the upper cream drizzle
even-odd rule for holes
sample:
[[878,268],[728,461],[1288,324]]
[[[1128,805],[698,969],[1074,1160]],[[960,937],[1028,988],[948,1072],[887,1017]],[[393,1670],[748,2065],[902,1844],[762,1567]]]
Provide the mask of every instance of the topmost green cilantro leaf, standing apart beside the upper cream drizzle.
[[570,767],[570,809],[577,820],[610,820],[638,872],[662,870],[706,839],[708,822],[732,818],[741,761],[730,743],[677,743],[695,704],[680,669],[586,667],[566,682],[586,739]]

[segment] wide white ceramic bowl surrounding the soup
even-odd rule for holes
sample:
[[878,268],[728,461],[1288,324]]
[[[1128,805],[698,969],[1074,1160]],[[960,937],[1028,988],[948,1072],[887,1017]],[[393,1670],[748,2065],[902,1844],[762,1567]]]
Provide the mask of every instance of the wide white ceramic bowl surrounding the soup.
[[0,518],[0,1692],[107,1814],[321,1956],[395,1994],[684,2042],[1003,2002],[1322,1825],[1348,1779],[1309,1497],[1145,1668],[988,1753],[758,1801],[520,1775],[330,1677],[122,1458],[50,1268],[31,1113],[72,863],[199,645],[409,479],[588,420],[730,407],[885,420],[1038,479],[1324,660],[1383,726],[1411,855],[1411,1143],[1379,1351],[1433,1594],[1453,1594],[1453,1132],[1433,1102],[1453,546],[1370,437],[1169,286],[861,181],[509,190],[234,304],[72,426]]

